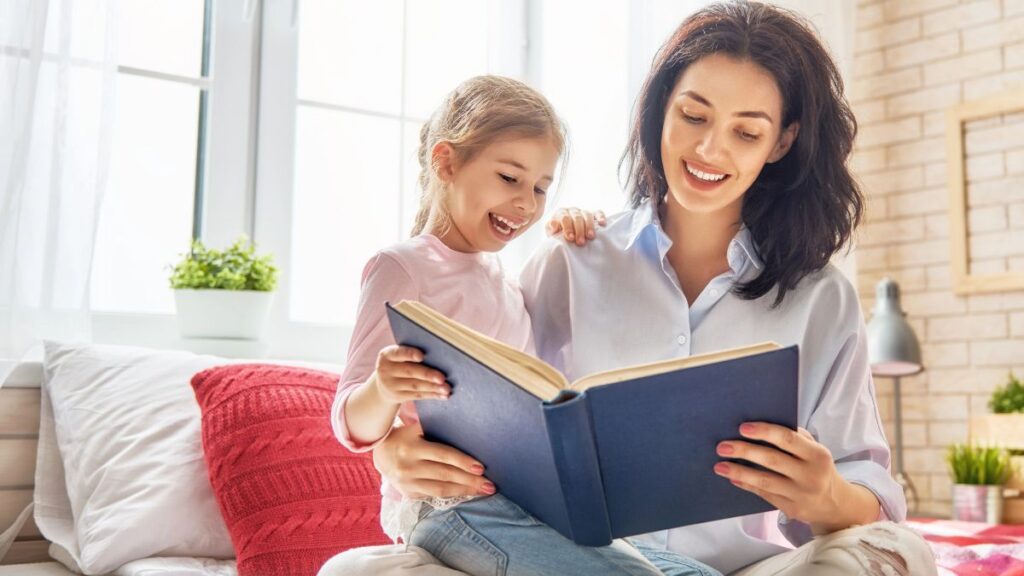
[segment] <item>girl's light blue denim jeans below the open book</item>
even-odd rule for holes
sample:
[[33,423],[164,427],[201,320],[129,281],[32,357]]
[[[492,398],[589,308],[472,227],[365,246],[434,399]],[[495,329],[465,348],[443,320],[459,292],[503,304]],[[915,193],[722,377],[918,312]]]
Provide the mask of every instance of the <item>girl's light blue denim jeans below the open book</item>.
[[695,560],[627,540],[578,545],[500,494],[445,510],[424,504],[409,543],[473,576],[721,576]]

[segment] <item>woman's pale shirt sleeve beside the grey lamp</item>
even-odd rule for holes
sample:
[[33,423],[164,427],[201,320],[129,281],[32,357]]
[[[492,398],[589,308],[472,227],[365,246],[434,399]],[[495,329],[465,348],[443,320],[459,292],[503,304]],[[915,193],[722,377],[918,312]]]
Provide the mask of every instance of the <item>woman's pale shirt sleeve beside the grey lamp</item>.
[[[828,448],[837,470],[847,482],[874,494],[882,518],[902,522],[906,519],[906,499],[889,471],[889,443],[876,402],[863,317],[853,287],[844,281],[839,292],[838,302],[833,302],[831,307],[840,312],[840,323],[834,325],[840,337],[833,338],[839,342],[833,346],[838,353],[830,359],[807,429]],[[825,314],[817,316],[819,327],[822,323],[835,323],[837,318],[835,314],[830,319]],[[779,515],[779,529],[797,546],[813,538],[810,526],[784,515]]]

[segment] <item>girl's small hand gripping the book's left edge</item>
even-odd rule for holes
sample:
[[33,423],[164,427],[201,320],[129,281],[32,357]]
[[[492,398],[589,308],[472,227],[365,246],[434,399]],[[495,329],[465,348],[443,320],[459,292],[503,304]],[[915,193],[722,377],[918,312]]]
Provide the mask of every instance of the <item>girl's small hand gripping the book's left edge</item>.
[[452,388],[444,374],[422,364],[423,353],[409,346],[391,345],[377,355],[374,382],[385,402],[401,404],[412,400],[447,400]]

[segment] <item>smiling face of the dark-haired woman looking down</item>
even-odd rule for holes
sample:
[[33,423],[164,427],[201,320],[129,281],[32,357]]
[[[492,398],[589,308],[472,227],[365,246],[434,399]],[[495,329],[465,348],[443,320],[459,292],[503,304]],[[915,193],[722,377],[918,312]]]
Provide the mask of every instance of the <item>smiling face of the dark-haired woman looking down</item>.
[[669,95],[662,165],[670,206],[735,213],[765,163],[780,160],[799,131],[782,126],[775,79],[750,60],[712,54],[691,64]]

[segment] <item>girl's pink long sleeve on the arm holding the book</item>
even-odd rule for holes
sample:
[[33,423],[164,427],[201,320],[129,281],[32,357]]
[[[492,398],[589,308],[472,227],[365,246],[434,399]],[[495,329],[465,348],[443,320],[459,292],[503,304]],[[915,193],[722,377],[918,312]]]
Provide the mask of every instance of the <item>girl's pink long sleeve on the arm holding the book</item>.
[[[387,434],[373,444],[357,444],[352,440],[345,421],[345,403],[352,392],[370,379],[377,366],[381,348],[394,343],[387,322],[384,303],[417,299],[419,290],[412,275],[394,257],[379,253],[362,270],[359,306],[348,345],[348,359],[338,384],[338,394],[331,409],[331,424],[341,444],[352,452],[368,452],[380,444]],[[390,430],[389,430],[390,431]]]

